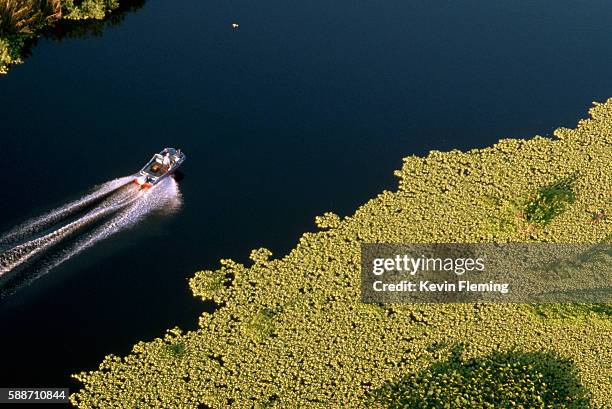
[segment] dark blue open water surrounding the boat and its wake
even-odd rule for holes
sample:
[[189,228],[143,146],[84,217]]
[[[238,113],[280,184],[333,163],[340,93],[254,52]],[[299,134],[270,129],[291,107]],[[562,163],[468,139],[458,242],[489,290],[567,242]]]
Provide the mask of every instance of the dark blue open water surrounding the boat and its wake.
[[[605,1],[150,0],[101,36],[43,39],[0,78],[1,230],[189,155],[184,205],[0,304],[2,386],[64,386],[140,339],[194,328],[186,278],[292,248],[403,156],[574,126],[612,96]],[[240,23],[233,31],[230,24]]]

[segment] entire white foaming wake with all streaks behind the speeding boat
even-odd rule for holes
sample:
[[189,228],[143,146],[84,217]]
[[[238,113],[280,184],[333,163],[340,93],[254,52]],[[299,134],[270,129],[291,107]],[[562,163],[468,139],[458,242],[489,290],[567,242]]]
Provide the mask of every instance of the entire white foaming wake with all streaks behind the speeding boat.
[[[131,183],[133,180],[134,176],[128,176],[104,183],[82,198],[26,221],[0,236],[0,244],[9,244],[7,250],[0,252],[0,280],[18,274],[35,260],[45,258],[25,280],[25,284],[29,284],[95,243],[134,226],[146,216],[180,208],[181,195],[173,178],[166,178],[146,190]],[[63,243],[66,244],[60,246]],[[21,280],[19,287],[25,284]],[[1,295],[6,295],[5,292],[0,291],[0,298],[4,298]]]

